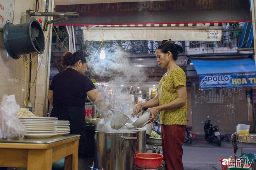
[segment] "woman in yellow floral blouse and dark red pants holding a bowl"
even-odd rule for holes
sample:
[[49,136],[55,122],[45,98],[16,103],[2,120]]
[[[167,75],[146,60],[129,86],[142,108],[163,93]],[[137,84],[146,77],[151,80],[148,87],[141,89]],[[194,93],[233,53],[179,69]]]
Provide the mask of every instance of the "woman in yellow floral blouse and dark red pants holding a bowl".
[[169,40],[162,41],[156,50],[157,63],[166,68],[166,73],[158,85],[155,98],[136,105],[135,113],[142,108],[150,108],[152,122],[160,112],[161,136],[166,170],[183,170],[182,144],[187,123],[187,89],[185,72],[176,65],[182,47]]

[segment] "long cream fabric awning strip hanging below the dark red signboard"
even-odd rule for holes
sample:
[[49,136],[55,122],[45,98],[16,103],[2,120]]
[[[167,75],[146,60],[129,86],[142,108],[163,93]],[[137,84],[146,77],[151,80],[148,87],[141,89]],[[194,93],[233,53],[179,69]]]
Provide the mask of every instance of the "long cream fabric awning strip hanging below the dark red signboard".
[[[175,41],[220,41],[223,27],[209,26],[207,31],[199,26],[147,26],[147,27],[97,27],[83,30],[84,40],[152,40],[171,37]],[[206,25],[204,25],[206,26]]]

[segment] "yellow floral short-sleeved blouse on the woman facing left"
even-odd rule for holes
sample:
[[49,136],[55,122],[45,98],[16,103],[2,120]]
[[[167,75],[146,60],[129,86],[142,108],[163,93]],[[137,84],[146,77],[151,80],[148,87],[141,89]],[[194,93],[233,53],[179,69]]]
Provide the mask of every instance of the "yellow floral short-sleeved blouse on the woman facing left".
[[[178,66],[170,70],[169,74],[164,74],[158,85],[158,101],[160,105],[166,105],[178,98],[177,86],[186,87],[185,72]],[[163,110],[160,112],[160,124],[163,125],[186,125],[187,124],[187,102],[173,110]]]

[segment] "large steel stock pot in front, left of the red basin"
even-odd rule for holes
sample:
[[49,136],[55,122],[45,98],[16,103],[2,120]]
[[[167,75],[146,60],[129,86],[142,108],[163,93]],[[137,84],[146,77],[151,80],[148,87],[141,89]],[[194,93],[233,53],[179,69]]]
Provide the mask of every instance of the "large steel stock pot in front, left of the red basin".
[[133,170],[137,147],[135,131],[95,131],[94,167],[99,170]]

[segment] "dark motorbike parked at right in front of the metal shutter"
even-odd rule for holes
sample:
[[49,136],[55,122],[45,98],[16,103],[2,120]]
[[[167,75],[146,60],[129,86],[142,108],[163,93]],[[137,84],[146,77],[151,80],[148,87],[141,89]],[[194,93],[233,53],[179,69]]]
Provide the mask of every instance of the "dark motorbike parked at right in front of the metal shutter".
[[221,141],[224,139],[224,136],[220,135],[218,126],[213,126],[211,120],[208,120],[210,116],[207,116],[207,120],[204,124],[204,139],[209,143],[217,143],[218,146],[221,146]]

